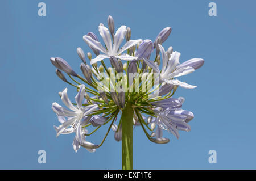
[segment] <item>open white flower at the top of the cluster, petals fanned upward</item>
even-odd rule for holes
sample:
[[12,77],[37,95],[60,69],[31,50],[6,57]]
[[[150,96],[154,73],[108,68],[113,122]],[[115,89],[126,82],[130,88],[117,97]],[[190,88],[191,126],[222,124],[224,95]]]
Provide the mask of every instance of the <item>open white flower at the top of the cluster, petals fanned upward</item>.
[[100,32],[100,35],[102,39],[104,40],[104,43],[106,45],[106,49],[101,45],[100,42],[93,40],[92,37],[85,35],[83,37],[84,41],[89,45],[89,47],[92,47],[94,49],[100,50],[104,54],[99,54],[96,58],[92,59],[90,62],[91,64],[96,63],[97,61],[104,60],[105,58],[109,58],[110,56],[114,56],[116,58],[119,58],[121,60],[137,60],[137,57],[130,56],[129,54],[121,54],[125,50],[127,50],[130,47],[133,47],[134,45],[138,44],[141,39],[139,40],[129,40],[123,45],[122,48],[119,49],[126,33],[126,26],[121,26],[118,28],[117,32],[115,32],[114,35],[114,43],[112,44],[112,38],[110,35],[110,32],[108,28],[105,26],[98,26],[98,31]]

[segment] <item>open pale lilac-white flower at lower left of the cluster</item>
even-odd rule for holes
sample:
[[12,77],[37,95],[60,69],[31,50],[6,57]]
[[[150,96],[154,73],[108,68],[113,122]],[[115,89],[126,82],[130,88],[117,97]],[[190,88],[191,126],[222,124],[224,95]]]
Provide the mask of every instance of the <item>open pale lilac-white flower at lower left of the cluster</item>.
[[[96,110],[98,105],[92,104],[86,107],[82,106],[85,95],[84,85],[80,85],[79,92],[75,97],[77,104],[76,107],[73,106],[73,104],[69,100],[67,91],[68,89],[65,88],[64,91],[60,94],[61,100],[70,110],[60,106],[57,103],[52,103],[52,110],[57,114],[58,119],[61,123],[59,127],[54,126],[55,130],[57,131],[57,136],[59,136],[60,134],[70,134],[75,132],[76,137],[73,140],[73,148],[75,149],[75,151],[80,148],[79,145],[84,146],[89,151],[95,151],[94,148],[97,148],[97,145],[85,141],[85,136],[82,131],[82,120],[87,119],[87,115],[89,115],[92,111]],[[86,129],[84,128],[84,132],[85,131]]]

